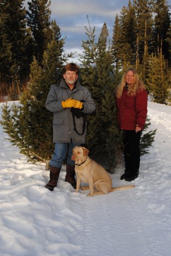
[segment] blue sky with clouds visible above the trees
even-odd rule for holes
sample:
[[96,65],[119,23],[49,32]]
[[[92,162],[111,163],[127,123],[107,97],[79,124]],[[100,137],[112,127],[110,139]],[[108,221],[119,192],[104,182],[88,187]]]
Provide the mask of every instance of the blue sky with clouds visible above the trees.
[[[28,1],[25,1],[25,3]],[[51,19],[56,20],[61,29],[62,37],[66,37],[64,50],[66,53],[77,52],[73,61],[79,63],[78,58],[83,48],[82,40],[86,40],[86,27],[95,26],[95,35],[98,38],[104,22],[112,37],[116,14],[119,15],[122,7],[127,6],[129,0],[51,0]],[[171,4],[171,0],[168,1]]]

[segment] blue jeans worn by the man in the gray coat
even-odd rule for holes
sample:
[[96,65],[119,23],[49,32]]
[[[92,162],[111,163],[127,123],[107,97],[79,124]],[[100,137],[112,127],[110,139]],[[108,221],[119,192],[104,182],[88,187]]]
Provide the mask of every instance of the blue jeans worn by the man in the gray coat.
[[72,150],[76,146],[80,146],[81,143],[55,143],[55,150],[53,158],[50,160],[49,165],[57,168],[61,168],[64,159],[66,158],[66,163],[74,166],[75,162],[71,160]]

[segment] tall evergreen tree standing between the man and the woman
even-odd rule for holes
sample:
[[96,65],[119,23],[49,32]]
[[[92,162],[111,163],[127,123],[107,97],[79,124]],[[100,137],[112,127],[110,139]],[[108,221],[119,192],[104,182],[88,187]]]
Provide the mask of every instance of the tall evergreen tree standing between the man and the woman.
[[108,30],[102,27],[98,41],[95,41],[95,27],[86,27],[87,41],[83,41],[81,57],[84,66],[82,84],[88,87],[96,103],[96,113],[88,116],[87,145],[91,157],[114,172],[121,138],[116,124],[113,67],[107,49]]

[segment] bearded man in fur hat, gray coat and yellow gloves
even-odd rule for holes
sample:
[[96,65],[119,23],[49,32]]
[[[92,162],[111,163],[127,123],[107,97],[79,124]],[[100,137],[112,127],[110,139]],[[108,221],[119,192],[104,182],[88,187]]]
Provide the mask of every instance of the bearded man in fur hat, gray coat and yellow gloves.
[[49,163],[50,180],[45,186],[51,191],[57,186],[65,158],[65,181],[76,188],[75,165],[71,160],[72,149],[86,142],[87,123],[83,114],[92,114],[96,109],[91,93],[78,81],[78,74],[79,68],[75,63],[67,64],[63,69],[61,83],[50,87],[46,100],[46,108],[54,114],[53,142],[55,150]]

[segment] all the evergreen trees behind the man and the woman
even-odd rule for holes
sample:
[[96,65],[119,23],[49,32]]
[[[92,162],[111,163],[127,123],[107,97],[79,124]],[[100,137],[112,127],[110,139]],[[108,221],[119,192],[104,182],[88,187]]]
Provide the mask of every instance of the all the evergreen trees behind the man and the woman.
[[[28,10],[23,3],[0,0],[0,99],[20,100],[19,106],[4,106],[1,124],[29,161],[43,161],[47,167],[54,145],[53,117],[45,109],[45,101],[50,85],[60,81],[62,67],[73,53],[64,52],[65,38],[50,19],[50,1],[29,1]],[[129,1],[115,17],[112,40],[106,22],[97,38],[96,27],[87,17],[80,80],[92,93],[96,113],[88,116],[86,143],[91,156],[110,172],[123,150],[114,100],[123,71],[135,67],[149,99],[171,104],[169,9],[165,0]],[[155,131],[143,133],[141,154],[148,153],[154,135]]]

